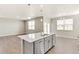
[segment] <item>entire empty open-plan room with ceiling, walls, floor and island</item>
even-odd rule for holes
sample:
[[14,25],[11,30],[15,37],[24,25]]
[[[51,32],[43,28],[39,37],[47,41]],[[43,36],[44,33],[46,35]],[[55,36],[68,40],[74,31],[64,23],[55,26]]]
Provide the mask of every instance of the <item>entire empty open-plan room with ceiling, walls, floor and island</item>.
[[79,54],[79,4],[0,4],[0,54]]

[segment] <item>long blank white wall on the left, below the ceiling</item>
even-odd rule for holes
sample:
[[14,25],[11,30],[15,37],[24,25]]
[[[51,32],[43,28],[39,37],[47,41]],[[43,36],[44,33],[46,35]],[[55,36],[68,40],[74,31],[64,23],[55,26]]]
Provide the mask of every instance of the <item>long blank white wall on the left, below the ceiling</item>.
[[23,22],[0,19],[0,36],[23,34]]

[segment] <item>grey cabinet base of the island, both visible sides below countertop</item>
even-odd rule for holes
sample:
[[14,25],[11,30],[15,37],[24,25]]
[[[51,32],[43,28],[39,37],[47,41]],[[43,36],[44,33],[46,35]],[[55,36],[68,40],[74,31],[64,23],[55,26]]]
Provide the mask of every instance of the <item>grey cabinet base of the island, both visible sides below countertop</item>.
[[44,37],[32,43],[24,41],[23,53],[25,54],[44,54],[53,46],[53,35]]

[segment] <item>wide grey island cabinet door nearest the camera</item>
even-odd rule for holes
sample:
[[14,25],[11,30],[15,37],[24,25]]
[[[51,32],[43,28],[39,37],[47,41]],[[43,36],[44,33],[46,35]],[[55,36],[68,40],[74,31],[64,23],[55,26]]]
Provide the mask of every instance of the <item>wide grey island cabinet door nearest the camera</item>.
[[40,39],[35,42],[35,53],[36,54],[44,53],[44,39]]

